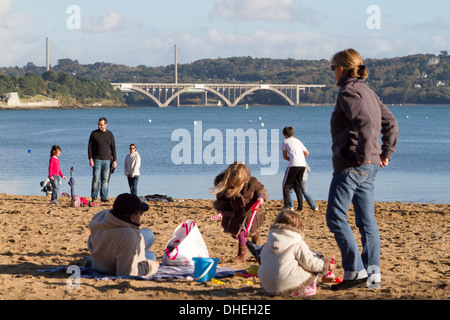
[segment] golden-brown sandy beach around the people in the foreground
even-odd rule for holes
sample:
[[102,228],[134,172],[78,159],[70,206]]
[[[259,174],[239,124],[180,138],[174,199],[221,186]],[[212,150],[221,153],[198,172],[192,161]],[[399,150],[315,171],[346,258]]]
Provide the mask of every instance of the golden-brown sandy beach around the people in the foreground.
[[[450,205],[387,202],[376,203],[381,233],[382,288],[333,292],[319,283],[308,298],[263,295],[257,278],[224,278],[224,284],[190,280],[93,280],[81,279],[79,289],[69,289],[68,274],[40,269],[69,265],[89,255],[88,223],[92,216],[112,206],[114,198],[100,207],[70,207],[68,197],[50,205],[46,196],[0,194],[0,299],[1,300],[446,300],[450,298]],[[156,235],[152,250],[161,262],[163,250],[176,226],[195,220],[210,255],[220,266],[246,269],[256,265],[248,253],[245,263],[233,263],[237,242],[224,234],[219,222],[211,222],[212,200],[176,199],[149,202],[142,227]],[[307,206],[302,213],[306,241],[327,257],[336,257],[334,273],[342,276],[340,254],[325,222],[326,202],[319,212]],[[268,201],[261,240],[279,212],[282,202]],[[354,224],[353,211],[349,220]],[[355,232],[357,230],[355,229]]]

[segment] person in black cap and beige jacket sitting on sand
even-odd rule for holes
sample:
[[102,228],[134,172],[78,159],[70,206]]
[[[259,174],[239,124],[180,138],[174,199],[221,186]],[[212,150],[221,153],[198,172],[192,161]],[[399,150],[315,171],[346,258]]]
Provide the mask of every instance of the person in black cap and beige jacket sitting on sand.
[[139,229],[148,209],[138,196],[123,193],[112,210],[100,211],[92,218],[88,249],[94,270],[118,276],[150,276],[158,271],[155,254],[147,250],[154,242],[153,232]]

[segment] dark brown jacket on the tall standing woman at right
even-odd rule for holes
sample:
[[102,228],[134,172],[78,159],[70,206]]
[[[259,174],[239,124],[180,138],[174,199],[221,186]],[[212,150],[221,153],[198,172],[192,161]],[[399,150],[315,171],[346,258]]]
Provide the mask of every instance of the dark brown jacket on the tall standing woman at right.
[[[360,163],[380,163],[397,148],[398,123],[364,80],[343,76],[331,115],[334,174]],[[380,144],[380,130],[381,142]]]

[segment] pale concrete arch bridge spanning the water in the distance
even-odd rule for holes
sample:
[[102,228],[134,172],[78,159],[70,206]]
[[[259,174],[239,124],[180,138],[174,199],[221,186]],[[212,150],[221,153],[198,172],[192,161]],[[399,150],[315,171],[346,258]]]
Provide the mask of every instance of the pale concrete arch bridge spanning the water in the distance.
[[123,92],[140,92],[153,100],[158,107],[169,106],[183,93],[201,93],[202,105],[207,105],[210,93],[224,106],[235,107],[245,96],[257,90],[273,91],[289,105],[295,106],[300,104],[300,92],[325,87],[319,84],[111,83],[111,85]]

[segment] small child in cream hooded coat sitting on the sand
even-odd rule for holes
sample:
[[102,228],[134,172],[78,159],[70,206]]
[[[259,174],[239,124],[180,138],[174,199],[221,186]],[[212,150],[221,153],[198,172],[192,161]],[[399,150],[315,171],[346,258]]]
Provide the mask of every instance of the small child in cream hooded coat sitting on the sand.
[[318,258],[303,239],[300,215],[283,209],[270,226],[261,251],[258,277],[265,295],[313,295],[318,275],[333,269],[334,265]]

